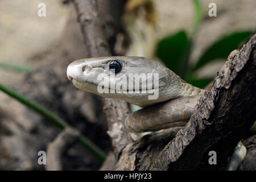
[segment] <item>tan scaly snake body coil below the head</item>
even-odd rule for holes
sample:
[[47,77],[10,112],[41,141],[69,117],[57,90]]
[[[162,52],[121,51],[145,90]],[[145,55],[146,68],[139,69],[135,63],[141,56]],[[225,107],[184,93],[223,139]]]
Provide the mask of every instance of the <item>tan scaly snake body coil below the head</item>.
[[134,111],[125,118],[125,126],[133,133],[184,126],[200,97],[177,98]]

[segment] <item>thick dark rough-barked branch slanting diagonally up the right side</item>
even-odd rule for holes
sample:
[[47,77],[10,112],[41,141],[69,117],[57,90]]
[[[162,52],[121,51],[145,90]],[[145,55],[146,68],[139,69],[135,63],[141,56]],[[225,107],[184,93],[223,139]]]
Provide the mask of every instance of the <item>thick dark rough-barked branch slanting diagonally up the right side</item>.
[[[197,103],[195,113],[174,140],[164,147],[150,169],[217,169],[256,120],[256,34],[233,51]],[[217,165],[208,162],[216,151]]]

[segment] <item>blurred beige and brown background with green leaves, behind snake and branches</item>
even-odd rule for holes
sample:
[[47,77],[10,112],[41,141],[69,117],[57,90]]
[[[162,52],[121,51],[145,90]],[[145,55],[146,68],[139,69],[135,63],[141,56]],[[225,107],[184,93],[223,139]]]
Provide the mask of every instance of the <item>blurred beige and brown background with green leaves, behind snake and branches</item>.
[[[46,16],[38,16],[39,3],[45,3]],[[200,88],[256,28],[255,0],[118,3],[123,9],[110,40],[114,55],[161,61]],[[209,16],[210,3],[216,16]],[[98,9],[106,9],[104,1]],[[76,16],[70,1],[1,0],[0,83],[46,107],[108,154],[112,147],[101,98],[77,90],[65,75],[69,63],[88,56]],[[0,92],[0,169],[46,169],[38,164],[38,151],[47,151],[61,132],[48,120]],[[60,160],[64,170],[95,170],[102,163],[78,143]]]

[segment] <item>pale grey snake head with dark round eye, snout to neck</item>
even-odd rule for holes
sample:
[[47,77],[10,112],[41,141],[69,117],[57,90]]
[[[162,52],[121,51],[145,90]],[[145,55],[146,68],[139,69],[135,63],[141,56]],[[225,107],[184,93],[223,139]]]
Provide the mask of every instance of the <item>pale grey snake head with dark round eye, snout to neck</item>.
[[164,65],[135,56],[77,60],[69,64],[67,77],[81,90],[139,106],[170,100],[174,90],[183,84]]

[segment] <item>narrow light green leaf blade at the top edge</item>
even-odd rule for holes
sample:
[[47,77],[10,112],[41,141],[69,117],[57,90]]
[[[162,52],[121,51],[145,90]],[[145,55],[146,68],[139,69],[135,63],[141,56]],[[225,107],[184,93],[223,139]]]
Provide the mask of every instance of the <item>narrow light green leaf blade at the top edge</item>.
[[195,6],[195,15],[194,15],[194,28],[193,28],[193,35],[196,34],[199,26],[203,20],[203,6],[201,5],[199,0],[193,0]]

